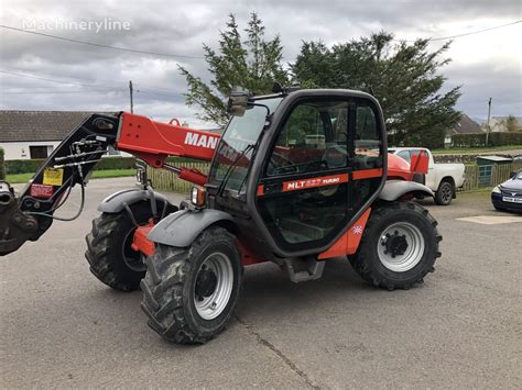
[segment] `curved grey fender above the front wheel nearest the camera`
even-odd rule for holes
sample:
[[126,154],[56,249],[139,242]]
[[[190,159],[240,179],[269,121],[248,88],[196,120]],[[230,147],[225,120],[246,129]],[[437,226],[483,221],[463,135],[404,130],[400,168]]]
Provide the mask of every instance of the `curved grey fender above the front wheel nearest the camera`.
[[146,236],[148,239],[177,247],[186,247],[205,229],[219,221],[230,221],[232,215],[220,210],[204,209],[193,211],[188,209],[176,211],[161,220]]

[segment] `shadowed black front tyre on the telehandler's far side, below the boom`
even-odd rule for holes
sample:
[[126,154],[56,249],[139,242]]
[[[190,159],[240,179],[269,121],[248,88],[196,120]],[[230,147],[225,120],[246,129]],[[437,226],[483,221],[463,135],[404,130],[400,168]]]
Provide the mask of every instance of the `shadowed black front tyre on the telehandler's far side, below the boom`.
[[[150,203],[140,202],[130,207],[138,224],[145,224],[152,216]],[[141,254],[132,244],[135,226],[126,210],[119,213],[102,213],[93,221],[93,230],[85,237],[85,257],[90,271],[102,283],[121,291],[140,288],[146,267]]]

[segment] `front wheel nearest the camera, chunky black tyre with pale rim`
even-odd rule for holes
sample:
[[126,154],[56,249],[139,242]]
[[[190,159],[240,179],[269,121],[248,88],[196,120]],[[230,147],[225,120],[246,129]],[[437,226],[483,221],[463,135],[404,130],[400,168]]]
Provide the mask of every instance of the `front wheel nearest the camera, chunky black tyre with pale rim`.
[[230,321],[241,285],[236,237],[210,227],[186,248],[159,244],[141,281],[149,326],[170,342],[203,344]]

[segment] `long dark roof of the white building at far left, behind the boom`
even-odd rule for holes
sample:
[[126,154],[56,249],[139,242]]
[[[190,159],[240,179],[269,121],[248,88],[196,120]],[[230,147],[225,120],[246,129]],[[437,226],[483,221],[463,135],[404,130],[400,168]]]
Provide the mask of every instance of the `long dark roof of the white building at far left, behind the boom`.
[[62,141],[91,113],[0,110],[0,142]]

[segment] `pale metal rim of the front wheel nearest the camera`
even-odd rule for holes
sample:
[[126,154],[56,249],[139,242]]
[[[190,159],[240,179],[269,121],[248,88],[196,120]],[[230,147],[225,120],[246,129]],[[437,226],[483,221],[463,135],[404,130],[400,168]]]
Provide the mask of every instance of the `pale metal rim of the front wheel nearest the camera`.
[[208,256],[196,276],[194,305],[204,320],[214,320],[227,307],[233,286],[232,264],[228,256],[215,253]]

